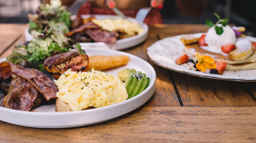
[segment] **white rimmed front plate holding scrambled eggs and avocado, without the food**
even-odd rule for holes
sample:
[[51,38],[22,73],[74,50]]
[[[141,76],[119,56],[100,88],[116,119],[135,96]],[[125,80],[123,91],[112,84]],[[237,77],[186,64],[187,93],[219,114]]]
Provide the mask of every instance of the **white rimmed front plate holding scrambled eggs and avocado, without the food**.
[[[76,127],[83,125],[90,125],[106,120],[114,119],[122,116],[128,112],[131,112],[138,108],[139,106],[146,103],[155,92],[156,88],[156,72],[154,68],[145,60],[116,50],[108,49],[96,49],[96,48],[84,48],[87,55],[127,55],[130,60],[127,65],[115,68],[112,70],[105,71],[113,75],[117,75],[118,71],[125,68],[136,69],[146,73],[147,77],[150,78],[149,86],[137,96],[128,99],[126,101],[116,103],[113,105],[94,108],[82,111],[73,112],[56,112],[55,104],[42,105],[32,111],[18,111],[12,110],[4,107],[0,107],[0,120],[28,127],[37,128],[66,128],[66,127]],[[3,62],[6,58],[0,60]]]

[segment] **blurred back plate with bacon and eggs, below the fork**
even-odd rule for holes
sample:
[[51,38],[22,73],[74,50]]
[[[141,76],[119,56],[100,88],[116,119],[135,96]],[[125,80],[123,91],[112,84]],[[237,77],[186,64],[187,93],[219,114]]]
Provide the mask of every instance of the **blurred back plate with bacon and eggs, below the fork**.
[[[133,18],[122,19],[115,15],[73,15],[71,21],[71,28],[66,36],[79,42],[82,47],[123,50],[138,45],[148,36],[148,26],[140,26]],[[27,27],[26,41],[32,37]]]

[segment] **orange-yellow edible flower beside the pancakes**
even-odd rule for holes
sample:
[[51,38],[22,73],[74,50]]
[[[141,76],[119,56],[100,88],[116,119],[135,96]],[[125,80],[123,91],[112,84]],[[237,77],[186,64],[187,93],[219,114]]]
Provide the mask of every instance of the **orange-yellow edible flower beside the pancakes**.
[[207,69],[215,69],[216,64],[212,57],[206,55],[196,55],[198,63],[196,63],[196,67],[198,70],[205,72]]

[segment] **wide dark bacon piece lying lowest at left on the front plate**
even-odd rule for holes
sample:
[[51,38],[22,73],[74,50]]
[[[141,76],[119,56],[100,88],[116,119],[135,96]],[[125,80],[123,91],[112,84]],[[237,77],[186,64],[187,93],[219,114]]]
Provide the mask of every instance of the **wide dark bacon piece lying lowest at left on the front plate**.
[[8,94],[3,99],[4,107],[30,111],[38,96],[38,90],[24,78],[17,76],[11,81]]

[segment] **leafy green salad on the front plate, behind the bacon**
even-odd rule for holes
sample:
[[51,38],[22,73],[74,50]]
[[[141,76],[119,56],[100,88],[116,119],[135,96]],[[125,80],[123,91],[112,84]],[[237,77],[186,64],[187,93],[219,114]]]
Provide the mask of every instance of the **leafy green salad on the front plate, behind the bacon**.
[[[51,24],[50,24],[51,25]],[[79,43],[65,37],[61,24],[54,24],[53,29],[50,25],[44,31],[32,30],[33,39],[25,44],[15,46],[12,54],[7,56],[7,60],[14,64],[27,68],[34,68],[43,71],[44,60],[55,54],[76,50],[85,54]]]

